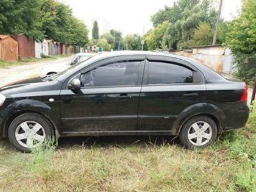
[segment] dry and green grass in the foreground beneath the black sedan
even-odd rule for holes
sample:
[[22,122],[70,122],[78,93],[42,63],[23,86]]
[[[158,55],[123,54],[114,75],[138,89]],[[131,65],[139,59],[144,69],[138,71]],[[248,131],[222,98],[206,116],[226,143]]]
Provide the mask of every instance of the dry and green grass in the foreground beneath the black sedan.
[[0,191],[256,191],[256,103],[207,149],[169,137],[65,138],[32,154],[0,142]]

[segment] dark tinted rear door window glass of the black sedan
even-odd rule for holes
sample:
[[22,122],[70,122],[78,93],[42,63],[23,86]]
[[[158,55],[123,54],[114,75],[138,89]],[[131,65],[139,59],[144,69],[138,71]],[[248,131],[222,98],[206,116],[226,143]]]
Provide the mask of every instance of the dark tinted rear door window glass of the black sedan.
[[193,71],[172,63],[149,62],[148,84],[193,83]]

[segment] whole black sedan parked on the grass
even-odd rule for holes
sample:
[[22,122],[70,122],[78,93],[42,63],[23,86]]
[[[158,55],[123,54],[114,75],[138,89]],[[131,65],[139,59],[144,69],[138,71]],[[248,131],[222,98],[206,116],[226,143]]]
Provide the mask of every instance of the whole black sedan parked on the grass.
[[24,152],[48,137],[100,135],[179,135],[186,148],[205,148],[249,116],[244,82],[155,52],[96,55],[0,91],[1,136]]

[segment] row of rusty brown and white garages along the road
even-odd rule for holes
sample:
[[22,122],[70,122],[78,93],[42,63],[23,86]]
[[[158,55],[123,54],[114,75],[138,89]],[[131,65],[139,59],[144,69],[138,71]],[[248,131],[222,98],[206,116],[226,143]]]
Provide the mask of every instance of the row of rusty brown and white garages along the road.
[[40,58],[42,55],[68,55],[83,50],[53,40],[35,41],[25,34],[0,35],[0,60],[15,61],[31,57]]

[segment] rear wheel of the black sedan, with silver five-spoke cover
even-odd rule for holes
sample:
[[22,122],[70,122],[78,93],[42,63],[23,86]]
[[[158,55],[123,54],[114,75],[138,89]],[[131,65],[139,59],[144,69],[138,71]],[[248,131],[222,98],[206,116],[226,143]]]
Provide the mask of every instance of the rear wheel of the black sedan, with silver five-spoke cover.
[[217,131],[212,118],[204,115],[195,116],[182,126],[179,139],[185,148],[206,148],[216,141]]

